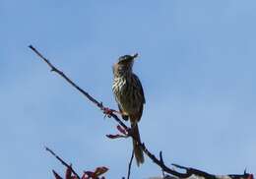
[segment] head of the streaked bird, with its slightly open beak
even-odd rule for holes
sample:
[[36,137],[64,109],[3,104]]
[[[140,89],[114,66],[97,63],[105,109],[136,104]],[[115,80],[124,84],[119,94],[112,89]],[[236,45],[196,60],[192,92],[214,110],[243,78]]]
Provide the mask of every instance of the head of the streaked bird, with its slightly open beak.
[[118,58],[117,63],[113,66],[115,76],[129,75],[132,73],[134,60],[138,57],[138,53],[134,55],[124,55]]

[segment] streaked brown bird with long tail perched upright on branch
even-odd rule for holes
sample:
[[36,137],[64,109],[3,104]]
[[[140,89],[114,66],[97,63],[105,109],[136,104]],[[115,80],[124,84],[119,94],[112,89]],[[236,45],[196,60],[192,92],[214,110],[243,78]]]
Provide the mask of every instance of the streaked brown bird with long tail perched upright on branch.
[[131,123],[131,131],[135,138],[133,139],[134,155],[137,165],[140,166],[144,163],[144,154],[139,146],[141,137],[138,122],[141,120],[146,100],[142,84],[133,73],[133,64],[137,57],[138,53],[124,55],[114,63],[112,90],[122,118]]

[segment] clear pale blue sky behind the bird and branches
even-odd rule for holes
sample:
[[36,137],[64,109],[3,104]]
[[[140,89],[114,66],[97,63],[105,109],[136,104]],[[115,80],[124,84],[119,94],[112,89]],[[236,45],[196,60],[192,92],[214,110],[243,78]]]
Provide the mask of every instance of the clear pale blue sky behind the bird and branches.
[[[82,88],[116,108],[111,66],[138,52],[146,95],[143,141],[166,163],[210,173],[256,171],[256,2],[253,0],[0,0],[2,178],[52,178],[105,165],[126,175],[130,140],[115,123],[49,72],[39,49]],[[132,178],[160,175],[146,159]]]

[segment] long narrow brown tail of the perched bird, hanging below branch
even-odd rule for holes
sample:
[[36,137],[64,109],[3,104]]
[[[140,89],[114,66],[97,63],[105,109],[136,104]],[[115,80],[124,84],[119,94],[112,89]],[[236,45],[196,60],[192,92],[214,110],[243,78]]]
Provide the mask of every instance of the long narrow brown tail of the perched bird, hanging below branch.
[[[137,122],[132,122],[131,127],[132,127],[134,137],[138,142],[141,142],[141,137],[140,137],[140,132],[139,132]],[[133,149],[134,149],[134,155],[137,161],[137,165],[140,166],[140,164],[143,164],[144,162],[144,155],[143,155],[143,150],[140,148],[137,141],[133,140]]]

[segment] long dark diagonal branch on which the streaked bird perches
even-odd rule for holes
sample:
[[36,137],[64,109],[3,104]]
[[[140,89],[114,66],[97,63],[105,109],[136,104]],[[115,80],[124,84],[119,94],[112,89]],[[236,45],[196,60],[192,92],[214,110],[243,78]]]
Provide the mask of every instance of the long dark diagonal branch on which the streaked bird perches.
[[[58,70],[55,66],[53,66],[50,63],[50,61],[48,59],[46,59],[32,45],[30,45],[29,47],[32,49],[32,51],[35,54],[37,54],[40,57],[40,59],[42,59],[51,68],[52,72],[57,73],[63,79],[65,79],[72,87],[74,87],[75,89],[78,89],[84,96],[86,96],[89,100],[91,100],[93,103],[95,103],[96,106],[100,110],[102,110],[105,115],[107,115],[109,118],[112,117],[119,125],[121,125],[128,132],[128,136],[129,137],[131,137],[134,140],[136,140],[136,138],[133,136],[133,133],[131,132],[131,129],[129,127],[127,127],[122,122],[122,120],[120,118],[118,118],[118,116],[114,113],[114,112],[116,112],[115,110],[109,109],[107,107],[104,107],[102,102],[98,102],[96,100],[96,98],[94,98],[92,95],[90,95],[87,91],[85,91],[84,89],[81,89],[78,85],[76,85],[62,71]],[[174,169],[171,169],[171,168],[169,168],[168,166],[166,166],[164,164],[161,152],[160,152],[160,158],[158,158],[155,154],[153,154],[149,149],[146,148],[146,145],[144,143],[140,143],[139,141],[137,141],[137,143],[141,147],[141,149],[143,149],[143,151],[152,159],[152,161],[160,166],[162,171],[164,171],[164,172],[166,172],[168,174],[171,174],[171,175],[173,175],[175,177],[178,177],[178,178],[189,178],[192,175],[196,175],[196,176],[204,177],[205,179],[217,179],[217,178],[220,178],[220,177],[218,177],[218,175],[212,175],[212,174],[209,174],[209,173],[201,171],[201,170],[197,170],[197,169],[189,168],[189,167],[184,167],[184,166],[180,166],[180,165],[177,165],[177,164],[172,164],[173,166],[175,166],[177,168],[180,168],[180,169],[184,169],[186,171],[185,173],[177,172]],[[66,164],[65,164],[65,166],[70,167],[69,165],[66,165]],[[228,176],[228,177],[230,177],[232,179],[253,179],[253,175],[252,174],[248,174],[246,172],[244,172],[244,174],[242,174],[242,175],[224,175],[224,176]]]

